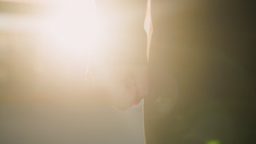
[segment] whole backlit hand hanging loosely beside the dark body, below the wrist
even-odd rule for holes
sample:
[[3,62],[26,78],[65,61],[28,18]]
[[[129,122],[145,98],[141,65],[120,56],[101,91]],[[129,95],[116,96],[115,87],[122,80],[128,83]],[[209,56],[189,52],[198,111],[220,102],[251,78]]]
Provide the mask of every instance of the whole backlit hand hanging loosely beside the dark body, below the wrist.
[[146,65],[102,67],[95,70],[95,87],[109,104],[126,110],[148,95]]

